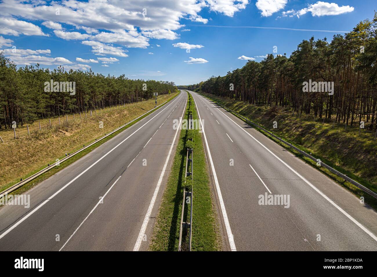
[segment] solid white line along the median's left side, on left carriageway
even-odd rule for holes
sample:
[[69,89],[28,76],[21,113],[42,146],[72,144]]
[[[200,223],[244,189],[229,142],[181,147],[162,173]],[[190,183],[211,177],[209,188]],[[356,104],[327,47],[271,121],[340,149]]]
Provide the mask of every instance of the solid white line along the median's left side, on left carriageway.
[[[186,106],[187,106],[187,97],[186,97],[186,104],[185,104],[184,107],[186,107]],[[182,117],[183,117],[183,115],[184,115],[185,110],[186,110],[186,109],[184,108],[184,109],[183,109],[183,112],[182,112],[182,116],[179,118],[179,126],[181,126]],[[156,188],[155,188],[155,192],[153,193],[152,199],[150,200],[150,204],[149,204],[149,207],[148,207],[147,213],[146,213],[146,215],[145,215],[145,217],[144,217],[143,224],[141,225],[141,229],[140,229],[140,232],[139,232],[139,236],[138,236],[138,238],[137,238],[137,240],[136,240],[135,246],[133,247],[133,251],[139,251],[139,249],[140,249],[141,242],[142,242],[142,240],[143,240],[143,236],[144,236],[144,234],[145,234],[145,231],[147,230],[147,225],[148,225],[148,222],[149,222],[149,217],[150,217],[150,214],[152,213],[153,206],[155,205],[155,201],[156,201],[156,198],[157,198],[157,194],[158,194],[158,191],[159,191],[160,186],[161,186],[162,178],[164,178],[164,174],[165,174],[165,171],[166,171],[166,167],[167,167],[167,164],[168,164],[168,162],[169,162],[169,158],[170,158],[170,155],[171,155],[171,153],[172,153],[173,146],[174,146],[174,142],[175,142],[175,139],[177,138],[178,131],[179,131],[179,128],[177,128],[177,130],[176,130],[176,132],[175,132],[175,136],[174,136],[173,142],[172,142],[172,145],[170,145],[169,153],[167,154],[167,157],[166,157],[166,161],[165,161],[164,167],[162,168],[160,178],[158,179],[157,186],[156,186]]]

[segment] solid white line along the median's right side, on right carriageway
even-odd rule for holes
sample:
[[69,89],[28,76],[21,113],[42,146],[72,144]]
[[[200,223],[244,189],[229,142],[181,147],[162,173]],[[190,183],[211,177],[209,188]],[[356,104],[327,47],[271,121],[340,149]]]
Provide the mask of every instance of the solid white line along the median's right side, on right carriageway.
[[[196,110],[198,111],[199,120],[202,121],[202,119],[200,117],[200,114],[199,114],[199,107],[196,105],[196,101],[195,101],[194,96],[193,96],[193,99],[194,99],[194,102],[195,102]],[[236,245],[234,244],[232,230],[230,229],[230,224],[229,224],[229,220],[228,220],[227,211],[225,210],[224,200],[222,199],[222,194],[221,194],[221,190],[220,190],[219,181],[218,181],[217,176],[216,176],[215,166],[213,165],[210,148],[208,146],[207,136],[205,135],[205,132],[204,132],[204,126],[202,126],[202,131],[203,131],[205,146],[207,148],[208,158],[209,158],[210,164],[211,164],[211,169],[212,169],[212,173],[213,173],[213,179],[215,180],[215,184],[216,184],[216,191],[217,191],[217,194],[219,196],[219,202],[220,202],[220,207],[221,207],[221,211],[222,211],[222,217],[224,219],[225,229],[227,230],[227,235],[228,235],[228,240],[229,240],[229,244],[230,244],[230,249],[231,249],[231,251],[237,251]]]

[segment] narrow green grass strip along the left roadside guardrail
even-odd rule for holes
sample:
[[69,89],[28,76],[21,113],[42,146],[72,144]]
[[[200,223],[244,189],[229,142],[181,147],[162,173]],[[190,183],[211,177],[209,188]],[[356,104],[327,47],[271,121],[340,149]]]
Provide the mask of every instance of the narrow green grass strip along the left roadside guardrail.
[[[169,103],[172,99],[174,99],[177,95],[178,95],[178,93],[175,94],[175,95],[173,95],[173,96],[172,96],[171,98],[169,98],[169,99],[167,100],[167,102],[166,102],[164,105],[162,105],[161,107],[165,106],[165,105],[166,105],[167,103]],[[161,107],[159,107],[159,108],[161,108]],[[158,109],[159,109],[159,108],[158,108]],[[153,110],[153,111],[154,111],[154,110]],[[37,184],[39,184],[40,182],[42,182],[42,181],[44,181],[44,180],[50,178],[52,175],[54,175],[54,174],[57,173],[58,171],[60,171],[60,170],[62,170],[63,168],[67,167],[68,165],[74,163],[74,162],[77,161],[78,159],[82,158],[82,157],[85,156],[87,153],[92,152],[95,148],[97,148],[98,146],[104,144],[106,141],[112,139],[114,136],[116,136],[116,135],[118,135],[119,133],[123,132],[123,131],[126,130],[127,128],[131,127],[133,124],[136,124],[136,122],[138,122],[138,121],[140,121],[141,119],[143,119],[144,117],[150,115],[150,113],[152,113],[153,111],[147,113],[146,115],[144,115],[144,116],[142,116],[141,118],[139,118],[139,119],[133,121],[132,123],[130,123],[130,124],[124,126],[122,129],[120,129],[120,130],[118,130],[117,132],[113,133],[112,135],[110,135],[110,136],[108,136],[108,137],[102,139],[101,141],[97,142],[96,144],[92,145],[91,147],[86,148],[85,150],[83,150],[83,151],[81,151],[80,153],[76,154],[76,155],[73,156],[72,158],[70,158],[70,159],[68,159],[68,160],[66,160],[66,161],[64,161],[64,162],[61,162],[60,165],[59,165],[58,167],[53,167],[53,168],[51,168],[51,169],[50,169],[49,171],[47,171],[46,173],[44,173],[44,174],[38,176],[38,177],[35,178],[34,180],[32,180],[32,181],[26,183],[25,185],[23,185],[23,186],[17,188],[17,190],[12,191],[12,193],[9,193],[8,195],[25,193],[26,191],[28,191],[28,190],[31,189],[32,187],[35,187],[35,186],[36,186]],[[139,115],[138,115],[138,116],[139,116]],[[137,116],[136,116],[136,117],[137,117]],[[93,142],[93,141],[95,141],[95,139],[93,139],[92,141],[86,142],[85,145],[90,144],[90,143]],[[84,144],[83,144],[83,145],[84,145]],[[79,150],[79,149],[80,149],[80,148],[75,149],[75,150],[72,150],[72,152],[69,152],[69,153],[73,153],[73,152],[75,152],[76,150]],[[60,157],[60,159],[63,159],[63,158],[64,158],[64,156]],[[55,161],[52,161],[51,164],[53,164],[54,162],[55,162]],[[32,172],[26,174],[26,175],[24,176],[23,179],[27,178],[28,176],[31,176],[31,175],[34,174],[34,173],[37,173],[38,171],[42,170],[42,169],[45,168],[46,166],[47,166],[47,164],[44,165],[44,166],[41,167],[41,168],[38,168],[37,170],[34,170],[34,171],[32,171]],[[6,188],[11,187],[11,186],[14,185],[14,184],[15,184],[15,182],[11,182],[11,183],[9,183],[8,185],[2,187],[2,190],[5,190]],[[0,205],[0,207],[2,207],[2,206]]]

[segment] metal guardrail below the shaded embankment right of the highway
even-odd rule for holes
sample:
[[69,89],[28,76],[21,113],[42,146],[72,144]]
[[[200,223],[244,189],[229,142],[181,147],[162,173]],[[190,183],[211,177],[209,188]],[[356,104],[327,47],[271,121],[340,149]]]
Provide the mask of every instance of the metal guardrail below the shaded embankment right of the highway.
[[[297,148],[296,146],[294,146],[293,144],[285,141],[284,139],[281,139],[279,138],[278,136],[274,135],[273,133],[271,133],[270,131],[264,129],[263,127],[259,126],[258,124],[254,123],[253,121],[251,121],[250,119],[248,118],[245,118],[245,116],[242,116],[240,115],[239,113],[235,112],[234,110],[231,110],[229,109],[228,107],[225,107],[224,105],[221,105],[219,104],[218,102],[215,102],[217,105],[219,105],[220,107],[223,107],[225,110],[229,110],[231,111],[232,113],[235,113],[236,115],[238,115],[239,117],[245,119],[245,121],[248,121],[250,122],[251,124],[253,124],[254,126],[258,127],[259,129],[263,130],[264,132],[268,133],[269,135],[273,136],[274,138],[278,139],[279,141],[283,142],[284,144],[287,144],[289,147],[293,148],[294,150],[300,152],[301,154],[305,155],[306,157],[312,159],[313,161],[315,162],[319,162],[320,160],[319,159],[316,159],[314,158],[313,156],[309,155],[308,153],[306,153],[305,151],[302,151],[301,149]],[[328,170],[330,170],[331,172],[335,173],[336,175],[338,175],[339,177],[345,179],[346,181],[350,182],[351,184],[355,185],[356,187],[360,188],[361,190],[363,190],[364,192],[368,193],[369,195],[373,196],[374,198],[377,199],[377,193],[375,193],[374,191],[371,191],[369,190],[369,188],[367,187],[364,187],[362,184],[359,184],[358,182],[354,181],[353,179],[349,178],[348,176],[346,176],[345,174],[343,173],[340,173],[339,171],[337,171],[336,169],[330,167],[329,165],[325,164],[324,162],[320,161],[320,165],[321,166],[324,166],[326,167]]]

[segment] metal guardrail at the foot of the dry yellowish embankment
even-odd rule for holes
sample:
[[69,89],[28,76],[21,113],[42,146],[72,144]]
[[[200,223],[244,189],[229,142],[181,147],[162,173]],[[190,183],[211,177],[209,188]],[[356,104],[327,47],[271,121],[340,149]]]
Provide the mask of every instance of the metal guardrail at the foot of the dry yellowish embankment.
[[122,129],[122,128],[125,127],[126,125],[128,125],[128,124],[130,124],[130,123],[132,123],[132,122],[138,120],[139,118],[143,117],[143,116],[146,115],[147,113],[150,113],[150,112],[152,112],[152,111],[155,110],[155,109],[158,109],[159,107],[161,107],[161,106],[164,105],[165,103],[167,103],[167,101],[165,101],[164,103],[158,105],[157,107],[154,107],[153,109],[151,109],[151,110],[149,110],[149,111],[143,113],[142,115],[138,116],[137,118],[132,119],[131,121],[127,122],[126,124],[123,124],[122,126],[118,127],[117,129],[113,130],[112,132],[110,132],[110,133],[108,133],[108,134],[102,136],[101,138],[99,138],[99,139],[95,139],[95,141],[91,142],[90,144],[88,144],[88,145],[86,145],[86,146],[84,145],[83,148],[80,148],[79,150],[75,151],[74,153],[67,155],[67,156],[64,157],[63,159],[61,159],[61,160],[55,162],[54,164],[48,165],[47,167],[43,168],[42,170],[38,171],[37,173],[32,174],[32,175],[29,176],[28,178],[25,178],[24,180],[21,179],[21,181],[18,182],[17,184],[14,184],[14,185],[12,185],[11,187],[9,187],[9,188],[3,190],[3,191],[0,193],[0,198],[2,198],[3,196],[5,196],[5,195],[8,194],[8,193],[11,193],[12,191],[16,190],[17,188],[19,188],[19,187],[25,185],[26,183],[28,183],[28,182],[34,180],[35,178],[37,178],[38,176],[42,175],[43,173],[46,173],[46,172],[49,171],[51,168],[54,168],[55,166],[60,165],[61,162],[64,162],[64,161],[66,161],[66,160],[72,158],[73,156],[77,155],[78,153],[82,152],[83,150],[85,150],[85,149],[91,147],[92,145],[96,144],[97,142],[103,140],[104,138],[107,138],[108,136],[110,136],[110,135],[112,135],[113,133],[119,131],[120,129]]

